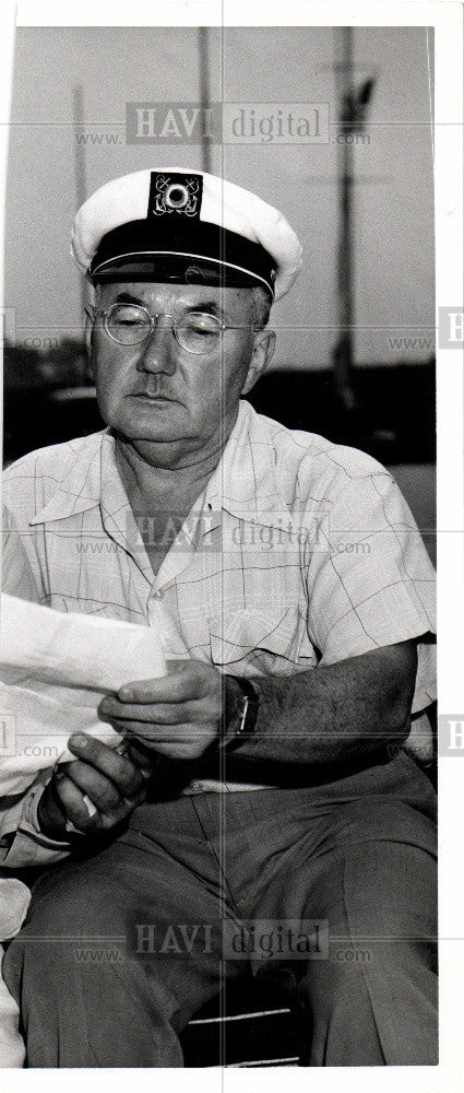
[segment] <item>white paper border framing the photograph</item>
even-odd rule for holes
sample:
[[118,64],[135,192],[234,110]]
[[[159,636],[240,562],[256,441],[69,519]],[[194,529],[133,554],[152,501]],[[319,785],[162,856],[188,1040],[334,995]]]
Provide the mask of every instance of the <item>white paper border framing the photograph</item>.
[[[16,17],[15,17],[16,16]],[[8,122],[11,101],[14,27],[17,26],[432,26],[436,44],[436,306],[462,306],[462,210],[463,210],[463,7],[457,2],[207,2],[165,0],[146,3],[61,2],[2,0],[0,10],[0,201],[4,209],[8,160]],[[3,252],[4,226],[0,246]],[[3,261],[1,266],[3,274]],[[3,275],[2,275],[3,285]],[[464,717],[464,506],[463,506],[463,354],[437,349],[438,406],[438,598],[439,598],[439,708],[442,715]],[[456,714],[457,710],[457,714]],[[460,713],[461,712],[461,713]],[[301,1093],[376,1093],[401,1084],[409,1093],[449,1093],[460,1088],[464,1073],[464,860],[461,833],[464,827],[462,766],[454,756],[439,759],[440,795],[440,1063],[438,1067],[354,1067],[285,1071],[285,1083]],[[217,1073],[219,1071],[219,1074]],[[341,1072],[342,1070],[342,1072]],[[197,1074],[198,1077],[192,1077]],[[177,1089],[194,1084],[205,1093],[217,1083],[227,1090],[279,1093],[283,1068],[251,1070],[169,1070],[163,1072]],[[152,1093],[152,1070],[59,1070],[8,1072],[9,1093],[40,1089],[52,1091],[66,1081],[71,1093],[82,1081],[95,1089],[102,1080],[114,1091],[124,1091],[128,1080],[138,1090]]]

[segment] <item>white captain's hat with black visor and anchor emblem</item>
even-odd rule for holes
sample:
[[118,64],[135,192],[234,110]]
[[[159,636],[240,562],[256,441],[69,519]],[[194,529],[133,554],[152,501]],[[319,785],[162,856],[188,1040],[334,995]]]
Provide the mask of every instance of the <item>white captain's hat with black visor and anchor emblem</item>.
[[261,284],[274,299],[301,266],[300,243],[282,213],[241,186],[180,167],[102,186],[76,214],[71,255],[94,283]]

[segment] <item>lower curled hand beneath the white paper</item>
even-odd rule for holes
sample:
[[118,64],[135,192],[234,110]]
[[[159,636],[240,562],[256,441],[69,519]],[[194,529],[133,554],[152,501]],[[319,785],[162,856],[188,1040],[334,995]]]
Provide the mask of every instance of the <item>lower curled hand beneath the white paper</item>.
[[[126,820],[144,800],[152,769],[140,753],[121,755],[91,736],[75,733],[68,747],[76,759],[60,765],[38,806],[40,831],[58,842],[69,839],[68,820],[85,835],[110,831]],[[97,810],[94,815],[84,797]]]

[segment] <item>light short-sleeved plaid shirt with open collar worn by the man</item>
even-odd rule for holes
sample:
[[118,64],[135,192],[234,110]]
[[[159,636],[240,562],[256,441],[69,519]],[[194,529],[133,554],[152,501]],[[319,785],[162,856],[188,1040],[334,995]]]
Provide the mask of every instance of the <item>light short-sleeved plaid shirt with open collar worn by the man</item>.
[[[139,530],[108,430],[19,460],[3,501],[5,591],[160,622],[170,659],[286,675],[435,630],[435,572],[391,475],[245,401],[156,576],[151,518]],[[435,698],[432,653],[419,645],[416,714]]]

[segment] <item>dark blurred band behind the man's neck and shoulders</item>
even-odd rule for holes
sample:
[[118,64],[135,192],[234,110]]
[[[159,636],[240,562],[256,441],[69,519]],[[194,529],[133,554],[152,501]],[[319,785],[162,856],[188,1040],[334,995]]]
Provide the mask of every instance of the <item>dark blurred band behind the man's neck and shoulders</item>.
[[[382,463],[432,463],[436,456],[435,362],[355,367],[355,409],[337,397],[332,369],[275,369],[249,400],[288,428],[349,444]],[[5,348],[4,460],[104,427],[84,346],[71,340],[44,356]]]

